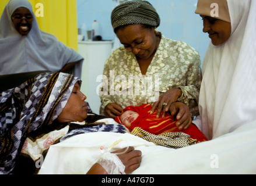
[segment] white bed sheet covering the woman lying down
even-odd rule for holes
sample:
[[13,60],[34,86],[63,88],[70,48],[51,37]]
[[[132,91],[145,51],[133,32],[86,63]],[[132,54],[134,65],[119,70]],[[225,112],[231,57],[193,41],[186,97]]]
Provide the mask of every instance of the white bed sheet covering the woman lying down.
[[[211,141],[171,149],[131,134],[79,134],[52,145],[39,174],[85,174],[101,156],[100,146],[127,145],[142,151],[141,166],[132,174],[255,174],[256,122]],[[114,150],[114,149],[113,149]]]

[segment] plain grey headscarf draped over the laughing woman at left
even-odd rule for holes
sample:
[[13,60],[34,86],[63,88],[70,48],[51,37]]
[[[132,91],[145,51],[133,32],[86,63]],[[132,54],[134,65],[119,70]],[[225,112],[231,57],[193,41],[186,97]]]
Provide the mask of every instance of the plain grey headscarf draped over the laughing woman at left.
[[[29,34],[22,36],[13,26],[11,16],[20,7],[34,17]],[[77,62],[73,74],[80,77],[83,58],[75,50],[59,42],[54,35],[40,30],[27,0],[10,0],[0,19],[0,75],[27,71],[56,72],[67,63]]]

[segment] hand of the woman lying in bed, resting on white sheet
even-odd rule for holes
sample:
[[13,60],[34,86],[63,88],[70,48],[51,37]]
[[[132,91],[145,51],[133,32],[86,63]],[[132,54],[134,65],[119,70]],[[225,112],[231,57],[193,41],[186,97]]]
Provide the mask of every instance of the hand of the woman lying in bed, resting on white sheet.
[[[113,153],[123,152],[124,149],[115,151]],[[127,152],[117,155],[121,160],[122,164],[125,166],[125,173],[130,174],[134,170],[138,169],[141,165],[141,151],[135,150],[133,146],[129,146]]]

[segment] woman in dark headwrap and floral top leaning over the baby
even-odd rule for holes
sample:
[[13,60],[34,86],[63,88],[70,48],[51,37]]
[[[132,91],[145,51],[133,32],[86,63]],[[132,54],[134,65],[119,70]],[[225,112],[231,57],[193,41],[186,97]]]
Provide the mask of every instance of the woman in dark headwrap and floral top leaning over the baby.
[[199,53],[158,32],[160,17],[147,1],[118,5],[111,23],[122,47],[113,51],[104,66],[101,115],[115,118],[129,105],[151,103],[157,117],[170,112],[180,129],[187,128],[191,117],[198,115]]

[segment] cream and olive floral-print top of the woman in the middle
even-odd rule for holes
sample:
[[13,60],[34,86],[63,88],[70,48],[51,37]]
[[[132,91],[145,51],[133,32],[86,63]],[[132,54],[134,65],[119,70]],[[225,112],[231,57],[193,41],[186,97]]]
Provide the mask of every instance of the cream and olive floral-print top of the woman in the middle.
[[152,104],[170,88],[180,88],[183,94],[178,101],[189,106],[191,116],[197,116],[201,79],[199,53],[185,42],[165,38],[162,34],[145,75],[132,52],[117,48],[104,66],[99,91],[100,114],[104,115],[108,103],[117,103],[123,108]]

